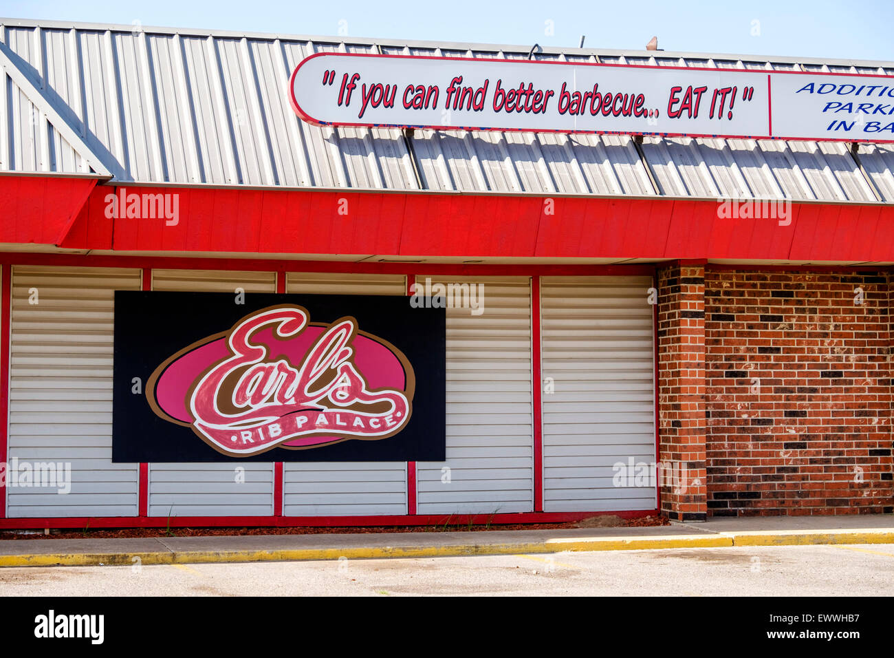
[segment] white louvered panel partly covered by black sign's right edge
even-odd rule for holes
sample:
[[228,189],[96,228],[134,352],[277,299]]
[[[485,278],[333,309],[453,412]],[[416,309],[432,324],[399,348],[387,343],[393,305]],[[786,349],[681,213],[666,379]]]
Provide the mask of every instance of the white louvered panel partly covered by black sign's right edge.
[[[426,277],[416,281],[425,284]],[[433,278],[433,284],[439,282],[450,283]],[[530,279],[455,283],[484,284],[485,311],[447,309],[447,460],[417,465],[417,513],[529,512],[534,508]]]

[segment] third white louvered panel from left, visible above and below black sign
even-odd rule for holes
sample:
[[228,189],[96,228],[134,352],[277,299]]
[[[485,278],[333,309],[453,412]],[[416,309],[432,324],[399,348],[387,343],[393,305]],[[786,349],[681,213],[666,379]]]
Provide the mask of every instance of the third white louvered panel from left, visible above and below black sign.
[[[406,291],[402,275],[302,272],[286,278],[288,293],[406,295]],[[283,498],[287,517],[406,514],[407,463],[286,462]]]

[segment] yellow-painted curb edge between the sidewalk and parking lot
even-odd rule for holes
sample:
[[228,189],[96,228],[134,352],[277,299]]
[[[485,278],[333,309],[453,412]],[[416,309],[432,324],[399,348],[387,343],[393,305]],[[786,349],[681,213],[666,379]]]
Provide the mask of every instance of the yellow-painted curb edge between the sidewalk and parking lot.
[[[561,551],[656,551],[731,546],[803,546],[809,544],[894,543],[894,531],[822,530],[804,532],[780,530],[742,533],[715,533],[700,536],[666,535],[657,537],[568,537],[539,542],[457,543],[430,545],[406,543],[397,546],[358,546],[351,548],[307,548],[274,551],[135,551],[23,553],[0,555],[0,567],[97,567],[133,564],[201,564],[226,562],[266,562],[284,560],[371,560],[382,558],[435,558],[463,555],[516,555],[557,553]],[[139,559],[139,560],[138,560]]]

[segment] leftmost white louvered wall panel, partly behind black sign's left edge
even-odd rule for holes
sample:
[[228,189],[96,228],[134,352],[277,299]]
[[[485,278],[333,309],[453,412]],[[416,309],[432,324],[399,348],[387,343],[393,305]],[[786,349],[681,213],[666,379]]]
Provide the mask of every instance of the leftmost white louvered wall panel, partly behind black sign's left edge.
[[72,490],[9,487],[9,517],[139,513],[139,466],[112,463],[114,290],[139,287],[139,269],[13,268],[9,458],[70,463]]

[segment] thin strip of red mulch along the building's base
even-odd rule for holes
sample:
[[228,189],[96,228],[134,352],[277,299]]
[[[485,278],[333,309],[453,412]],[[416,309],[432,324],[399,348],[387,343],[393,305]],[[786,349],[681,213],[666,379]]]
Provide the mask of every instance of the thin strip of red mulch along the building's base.
[[[639,517],[620,519],[616,526],[670,526],[664,517]],[[50,534],[25,534],[21,531],[0,531],[4,539],[112,539],[122,537],[219,537],[223,535],[247,534],[349,534],[349,533],[442,533],[487,530],[565,530],[578,527],[578,522],[504,524],[491,526],[467,526],[455,524],[446,526],[369,526],[369,527],[257,527],[257,528],[122,528],[120,530],[51,530]]]

